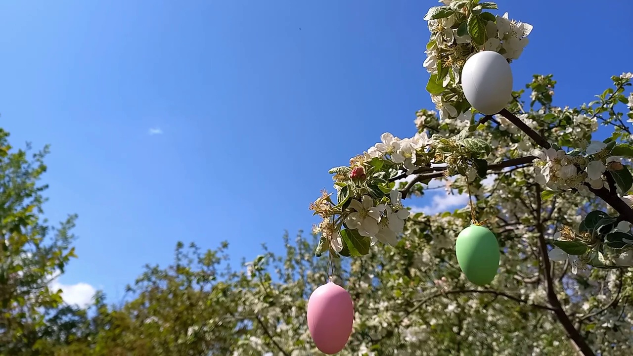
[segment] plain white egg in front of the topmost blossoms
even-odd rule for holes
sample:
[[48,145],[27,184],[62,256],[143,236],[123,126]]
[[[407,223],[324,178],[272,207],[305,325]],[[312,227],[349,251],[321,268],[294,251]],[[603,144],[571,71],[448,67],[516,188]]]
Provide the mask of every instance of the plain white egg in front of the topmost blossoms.
[[484,115],[499,113],[512,98],[510,63],[494,51],[482,51],[468,58],[461,70],[464,95]]

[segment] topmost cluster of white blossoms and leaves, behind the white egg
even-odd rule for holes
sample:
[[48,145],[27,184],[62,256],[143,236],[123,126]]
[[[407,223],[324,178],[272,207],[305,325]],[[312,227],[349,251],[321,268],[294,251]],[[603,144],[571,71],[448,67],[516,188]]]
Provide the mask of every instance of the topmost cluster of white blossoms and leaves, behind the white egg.
[[[506,60],[517,60],[528,44],[532,25],[510,20],[508,13],[492,15],[494,3],[439,1],[444,6],[431,8],[425,20],[431,32],[423,66],[431,74],[427,90],[441,120],[467,118],[470,105],[463,96],[460,75],[468,58],[479,51],[496,51]],[[474,26],[471,24],[474,23]],[[474,37],[473,37],[474,36]]]

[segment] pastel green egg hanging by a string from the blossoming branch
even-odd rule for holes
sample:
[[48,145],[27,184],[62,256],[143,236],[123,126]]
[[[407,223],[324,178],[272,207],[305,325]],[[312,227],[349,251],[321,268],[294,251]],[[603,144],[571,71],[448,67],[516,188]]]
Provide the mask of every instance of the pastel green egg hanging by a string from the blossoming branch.
[[501,255],[492,231],[483,226],[468,226],[457,236],[455,253],[468,281],[479,286],[492,282],[499,269]]

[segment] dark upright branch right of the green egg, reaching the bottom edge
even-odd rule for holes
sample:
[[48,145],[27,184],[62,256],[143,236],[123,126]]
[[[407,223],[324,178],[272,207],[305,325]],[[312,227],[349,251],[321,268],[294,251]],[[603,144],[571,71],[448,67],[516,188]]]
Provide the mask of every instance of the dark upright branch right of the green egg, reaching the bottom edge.
[[536,230],[539,233],[539,250],[541,251],[541,258],[543,262],[543,274],[545,276],[545,285],[547,289],[548,302],[554,307],[554,314],[556,318],[561,323],[567,336],[573,340],[573,342],[578,346],[580,352],[584,356],[595,356],[591,347],[587,344],[587,341],[582,338],[582,335],[578,332],[578,330],[573,326],[572,321],[565,313],[563,306],[558,300],[558,296],[556,296],[556,290],[554,289],[554,282],[551,276],[551,264],[549,263],[548,256],[548,243],[545,241],[545,232],[543,231],[543,222],[541,220],[541,186],[536,185]]

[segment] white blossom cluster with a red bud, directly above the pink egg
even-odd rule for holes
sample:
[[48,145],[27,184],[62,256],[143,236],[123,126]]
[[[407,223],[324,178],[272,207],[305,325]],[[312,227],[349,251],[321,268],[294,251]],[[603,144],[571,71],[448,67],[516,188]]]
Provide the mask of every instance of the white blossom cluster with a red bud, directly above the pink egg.
[[[342,253],[358,249],[354,239],[341,229],[368,239],[369,245],[380,241],[395,245],[403,232],[409,211],[402,204],[402,193],[394,188],[392,178],[400,172],[412,174],[428,165],[426,154],[432,144],[426,133],[399,139],[389,132],[380,136],[380,142],[350,160],[349,167],[333,168],[337,202],[323,191],[322,196],[310,205],[322,222],[313,227],[313,233],[321,234],[330,250]],[[386,192],[381,193],[381,192]],[[351,241],[350,241],[351,240]],[[358,243],[358,242],[357,242]],[[351,246],[348,246],[351,245]]]

